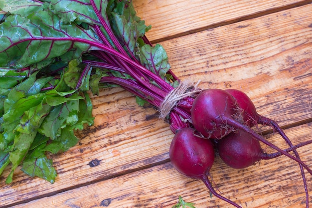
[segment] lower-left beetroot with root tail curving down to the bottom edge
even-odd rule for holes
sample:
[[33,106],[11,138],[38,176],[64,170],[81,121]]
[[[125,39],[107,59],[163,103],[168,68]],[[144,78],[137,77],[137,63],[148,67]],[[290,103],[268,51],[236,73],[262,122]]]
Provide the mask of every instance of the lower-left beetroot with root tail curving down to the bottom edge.
[[183,128],[174,135],[169,148],[173,167],[189,178],[201,180],[217,198],[241,208],[213,189],[208,175],[214,162],[214,146],[211,140],[195,136],[195,131],[193,128]]

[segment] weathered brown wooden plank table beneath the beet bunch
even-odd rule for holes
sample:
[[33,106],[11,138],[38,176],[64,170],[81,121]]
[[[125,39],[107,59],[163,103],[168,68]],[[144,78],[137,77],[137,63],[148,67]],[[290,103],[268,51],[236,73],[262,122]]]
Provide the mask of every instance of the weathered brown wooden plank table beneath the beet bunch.
[[[260,114],[285,128],[294,144],[311,139],[311,0],[134,4],[153,26],[147,36],[164,46],[181,80],[200,79],[201,88],[241,89]],[[121,88],[102,90],[92,101],[95,125],[77,133],[78,145],[49,156],[58,173],[55,183],[30,178],[18,169],[14,182],[5,185],[6,169],[0,178],[0,207],[171,208],[179,195],[196,208],[230,207],[210,198],[200,181],[172,168],[168,150],[173,134],[155,109],[139,107]],[[265,137],[287,148],[276,134]],[[312,168],[311,148],[300,148],[299,153]],[[91,167],[92,161],[99,165]],[[216,155],[211,175],[219,193],[243,208],[305,207],[299,166],[287,157],[235,170]],[[312,176],[306,176],[312,193]]]

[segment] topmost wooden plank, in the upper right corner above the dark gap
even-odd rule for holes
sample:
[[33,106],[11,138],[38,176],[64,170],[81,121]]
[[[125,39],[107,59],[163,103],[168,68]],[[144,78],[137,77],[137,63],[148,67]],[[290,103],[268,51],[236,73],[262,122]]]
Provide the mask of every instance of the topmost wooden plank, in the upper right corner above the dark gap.
[[150,40],[160,41],[296,6],[310,0],[134,0],[138,15],[152,25]]

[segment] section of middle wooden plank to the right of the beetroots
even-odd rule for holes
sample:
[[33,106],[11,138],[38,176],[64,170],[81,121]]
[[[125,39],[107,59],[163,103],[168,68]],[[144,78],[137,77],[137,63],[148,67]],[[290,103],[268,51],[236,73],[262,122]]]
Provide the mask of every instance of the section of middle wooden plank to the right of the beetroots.
[[182,80],[200,79],[201,88],[241,89],[260,113],[288,125],[312,117],[306,92],[312,76],[310,13],[311,5],[303,6],[161,44]]

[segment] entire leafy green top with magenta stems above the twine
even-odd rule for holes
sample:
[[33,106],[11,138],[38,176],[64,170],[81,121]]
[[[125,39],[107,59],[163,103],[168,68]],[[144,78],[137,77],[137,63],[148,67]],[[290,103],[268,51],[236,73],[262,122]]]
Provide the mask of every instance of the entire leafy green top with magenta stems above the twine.
[[[93,124],[88,95],[123,86],[140,105],[177,83],[161,45],[128,0],[0,1],[0,175],[20,164],[54,183],[45,152],[74,146],[75,130]],[[154,95],[156,94],[156,96]]]

